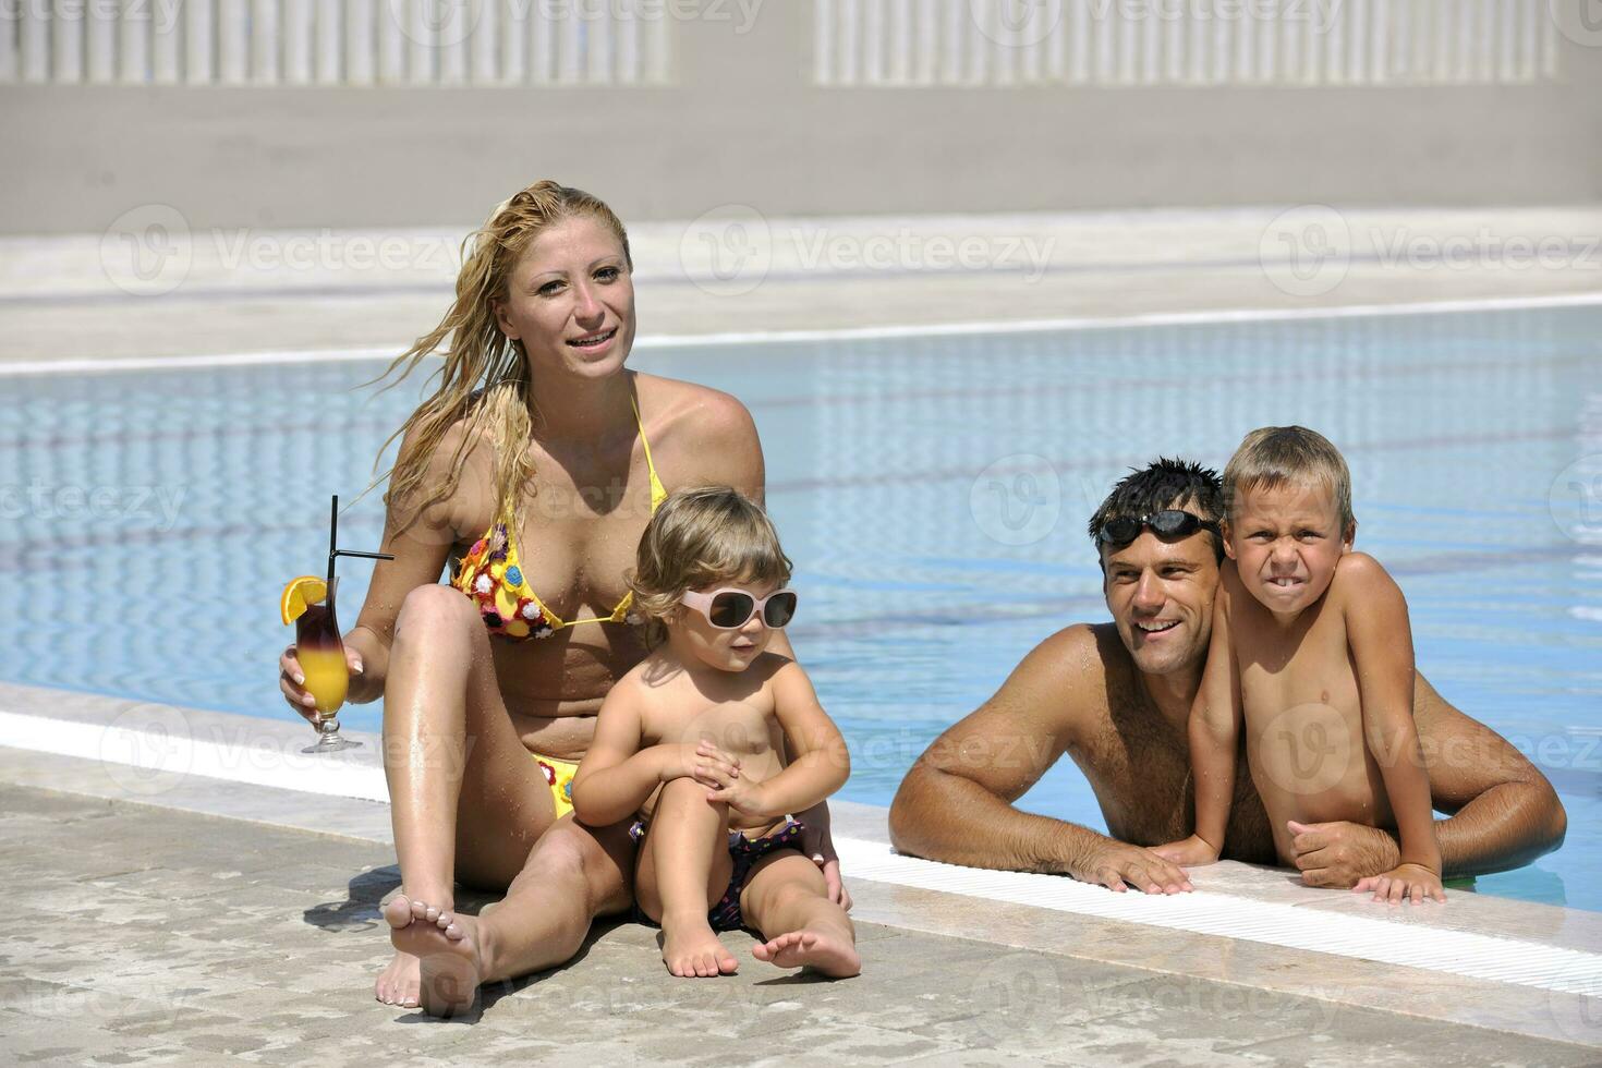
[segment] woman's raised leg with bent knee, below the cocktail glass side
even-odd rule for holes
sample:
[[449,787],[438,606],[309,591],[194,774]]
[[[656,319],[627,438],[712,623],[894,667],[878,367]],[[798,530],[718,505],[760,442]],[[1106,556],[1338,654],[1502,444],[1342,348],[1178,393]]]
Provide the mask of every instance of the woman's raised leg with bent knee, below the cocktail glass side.
[[418,1004],[410,922],[421,927],[455,908],[457,874],[481,885],[511,882],[556,818],[549,786],[501,701],[484,624],[450,586],[413,589],[396,620],[384,775],[402,897],[384,911],[397,953],[375,994]]

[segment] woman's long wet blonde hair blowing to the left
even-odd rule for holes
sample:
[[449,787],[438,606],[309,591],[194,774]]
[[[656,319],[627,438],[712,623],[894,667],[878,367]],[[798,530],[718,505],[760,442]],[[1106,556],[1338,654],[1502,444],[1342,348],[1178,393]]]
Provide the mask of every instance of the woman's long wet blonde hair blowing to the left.
[[[493,456],[495,500],[513,516],[521,512],[522,487],[533,476],[529,439],[533,436],[529,360],[521,341],[501,333],[495,303],[509,296],[513,271],[540,234],[551,226],[590,218],[599,221],[623,247],[623,264],[634,269],[628,232],[622,219],[599,197],[554,181],[540,181],[513,194],[490,211],[484,226],[461,242],[461,269],[457,272],[457,299],[428,335],[397,355],[378,379],[391,378],[384,389],[400,384],[429,354],[444,349],[444,365],[434,371],[439,387],[380,448],[402,439],[394,466],[375,479],[389,479],[384,504],[400,503],[405,528],[429,504],[457,492],[468,448],[489,442]],[[399,371],[399,373],[397,373]],[[425,485],[429,460],[445,434],[460,421],[465,434],[450,458],[447,477]],[[373,464],[376,471],[376,463]],[[368,487],[370,488],[370,487]],[[516,527],[514,527],[516,528]]]

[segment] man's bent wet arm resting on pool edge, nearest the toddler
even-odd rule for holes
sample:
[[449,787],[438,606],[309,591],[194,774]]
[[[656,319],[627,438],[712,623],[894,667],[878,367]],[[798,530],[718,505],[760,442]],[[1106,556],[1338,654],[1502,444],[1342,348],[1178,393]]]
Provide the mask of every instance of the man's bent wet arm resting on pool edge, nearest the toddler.
[[1075,743],[1089,692],[1101,693],[1089,626],[1053,634],[976,713],[934,740],[891,804],[891,842],[904,853],[969,868],[1045,871],[1177,893],[1190,882],[1150,850],[1051,817],[1017,801]]

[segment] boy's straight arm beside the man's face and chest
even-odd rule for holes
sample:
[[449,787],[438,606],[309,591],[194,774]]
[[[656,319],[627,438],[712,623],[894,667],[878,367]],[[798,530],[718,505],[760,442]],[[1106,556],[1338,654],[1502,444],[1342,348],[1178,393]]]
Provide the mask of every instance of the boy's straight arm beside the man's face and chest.
[[1208,642],[1202,687],[1190,708],[1190,773],[1195,778],[1197,826],[1190,837],[1155,852],[1176,865],[1210,865],[1224,852],[1224,828],[1235,797],[1235,753],[1240,745],[1240,676],[1229,639],[1227,567],[1213,604],[1213,637]]

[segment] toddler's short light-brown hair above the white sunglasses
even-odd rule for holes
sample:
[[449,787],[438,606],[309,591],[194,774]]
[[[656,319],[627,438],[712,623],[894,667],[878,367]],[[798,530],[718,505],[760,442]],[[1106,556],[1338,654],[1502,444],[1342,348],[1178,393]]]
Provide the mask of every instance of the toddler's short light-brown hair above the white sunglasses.
[[646,642],[655,645],[684,591],[719,583],[783,586],[791,567],[761,504],[734,487],[706,485],[678,490],[662,503],[625,578]]

